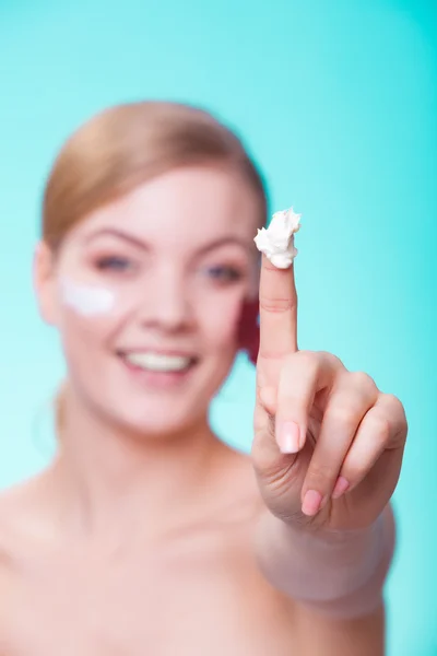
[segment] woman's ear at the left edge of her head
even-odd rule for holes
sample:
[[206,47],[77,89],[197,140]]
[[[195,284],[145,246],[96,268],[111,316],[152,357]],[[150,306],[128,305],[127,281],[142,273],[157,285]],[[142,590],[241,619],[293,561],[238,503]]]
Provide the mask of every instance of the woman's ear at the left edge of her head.
[[35,248],[33,279],[39,314],[46,324],[57,324],[57,293],[55,258],[45,242],[39,242]]

